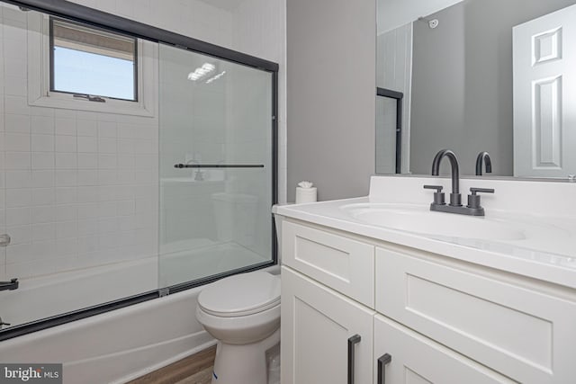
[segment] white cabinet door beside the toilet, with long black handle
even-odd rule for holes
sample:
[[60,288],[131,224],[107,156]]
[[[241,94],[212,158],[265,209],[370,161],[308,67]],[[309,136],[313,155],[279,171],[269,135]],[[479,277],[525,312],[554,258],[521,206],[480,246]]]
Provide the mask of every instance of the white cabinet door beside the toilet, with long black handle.
[[373,317],[374,311],[283,266],[283,384],[371,383]]

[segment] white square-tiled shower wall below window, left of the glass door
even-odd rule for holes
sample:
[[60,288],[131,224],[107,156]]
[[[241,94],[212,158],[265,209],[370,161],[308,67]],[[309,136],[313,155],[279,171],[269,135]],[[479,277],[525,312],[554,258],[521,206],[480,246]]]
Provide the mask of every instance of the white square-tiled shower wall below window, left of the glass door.
[[157,249],[157,119],[28,104],[28,13],[2,7],[4,276]]

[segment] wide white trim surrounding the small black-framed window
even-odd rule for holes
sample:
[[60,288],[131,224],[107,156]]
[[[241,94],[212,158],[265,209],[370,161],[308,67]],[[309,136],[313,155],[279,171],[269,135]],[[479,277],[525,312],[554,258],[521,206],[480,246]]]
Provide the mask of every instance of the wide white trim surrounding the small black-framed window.
[[[35,107],[48,107],[86,112],[103,112],[142,117],[157,117],[158,92],[158,48],[157,44],[136,38],[135,50],[136,70],[136,101],[102,97],[105,103],[90,102],[87,98],[74,97],[74,93],[53,91],[51,86],[51,56],[52,44],[50,33],[50,16],[46,13],[30,12],[28,23],[28,104]],[[56,17],[65,22],[73,22],[67,18]],[[98,29],[86,23],[86,27]],[[121,35],[116,31],[103,31]]]

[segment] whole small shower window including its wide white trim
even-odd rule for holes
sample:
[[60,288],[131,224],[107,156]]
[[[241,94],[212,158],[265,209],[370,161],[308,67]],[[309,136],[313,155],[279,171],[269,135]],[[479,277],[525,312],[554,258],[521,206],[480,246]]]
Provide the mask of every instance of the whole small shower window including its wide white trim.
[[33,11],[27,24],[29,105],[157,116],[157,42]]

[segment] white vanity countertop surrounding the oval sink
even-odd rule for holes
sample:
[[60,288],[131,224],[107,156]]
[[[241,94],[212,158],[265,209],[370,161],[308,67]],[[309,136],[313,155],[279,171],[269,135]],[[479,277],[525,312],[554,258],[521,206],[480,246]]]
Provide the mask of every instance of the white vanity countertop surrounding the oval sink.
[[[374,178],[384,179],[384,182],[382,180],[374,181]],[[432,180],[432,182],[438,181],[442,182],[443,179]],[[431,236],[376,226],[355,219],[349,211],[343,208],[349,204],[390,203],[390,196],[386,196],[386,193],[375,190],[376,185],[379,183],[386,185],[386,191],[390,191],[391,189],[396,190],[394,193],[394,199],[396,201],[392,202],[398,203],[401,201],[401,197],[399,196],[404,196],[404,198],[407,199],[406,194],[399,195],[397,192],[399,189],[402,190],[402,186],[392,185],[391,187],[391,184],[406,183],[413,186],[415,183],[420,185],[428,182],[430,182],[429,179],[415,181],[414,178],[373,177],[370,196],[338,201],[275,206],[274,212],[287,218],[300,219],[356,235],[371,237],[401,246],[410,246],[431,253],[453,257],[465,262],[476,263],[502,271],[513,272],[542,281],[554,282],[563,286],[576,288],[576,216],[572,215],[572,211],[570,210],[568,211],[569,214],[567,214],[567,210],[563,210],[562,212],[548,210],[547,213],[543,210],[536,210],[536,213],[532,210],[528,213],[523,211],[501,210],[500,208],[507,206],[507,201],[501,200],[498,202],[492,201],[492,205],[499,209],[490,209],[489,206],[491,204],[487,201],[486,204],[482,204],[486,208],[486,217],[495,220],[499,218],[506,219],[507,221],[512,220],[518,223],[519,226],[526,228],[527,233],[529,233],[529,236],[521,239],[487,240]],[[519,184],[515,185],[515,183]],[[510,191],[504,190],[514,189],[518,186],[526,189],[527,185],[522,182],[507,182],[504,184],[501,181],[495,182],[493,180],[473,180],[471,184],[480,187],[490,187],[496,184],[496,196],[498,196],[499,190],[502,192],[502,195],[506,196],[511,193]],[[419,188],[421,188],[421,186]],[[568,192],[572,195],[573,192],[576,192],[576,186],[566,187],[562,185],[558,187],[558,184],[554,186],[554,183],[549,183],[543,188],[554,190],[549,197],[552,199],[556,198],[554,203],[559,204],[559,206],[562,206],[562,204],[557,200],[563,198],[563,194],[565,195],[566,192]],[[563,189],[563,191],[561,191],[559,196],[554,196],[558,188]],[[535,189],[538,193],[542,192],[541,189],[536,188],[536,186]],[[445,191],[446,190],[449,190],[449,186],[447,189],[445,188]],[[463,191],[465,190],[463,189]],[[533,198],[533,196],[530,196],[530,192],[524,194],[525,196],[521,197],[521,199]],[[465,192],[463,195],[465,197]],[[431,199],[430,192],[426,192],[424,196],[424,199]],[[571,210],[573,208],[573,200],[574,199],[569,203]],[[423,210],[429,206],[429,201],[423,202],[421,198],[410,199],[410,201],[404,202],[419,205]],[[518,203],[518,199],[515,199],[515,204],[522,206],[522,204]],[[508,205],[513,206],[514,204]],[[454,215],[452,213],[433,213],[438,215]],[[478,219],[482,220],[482,218]]]

